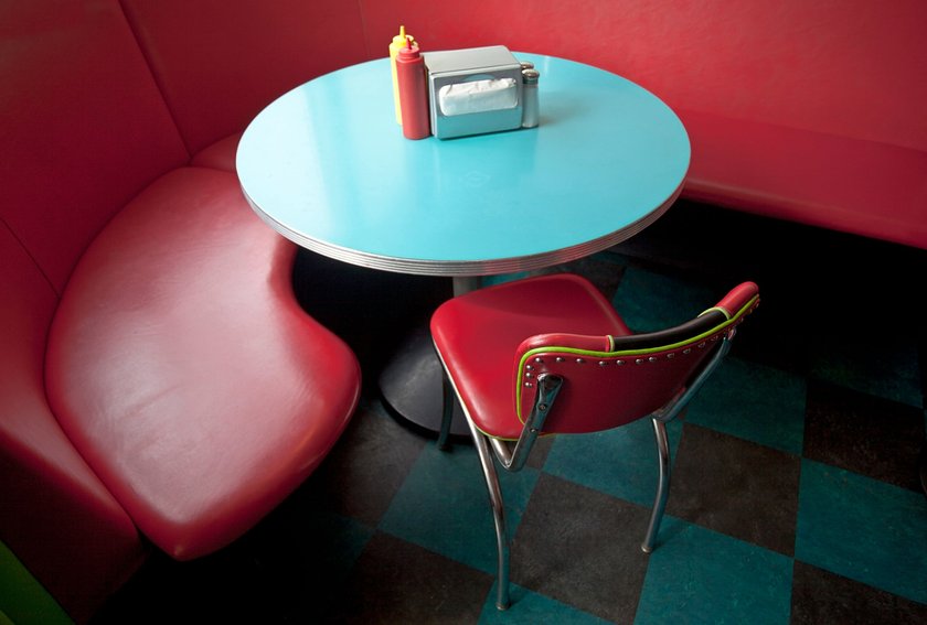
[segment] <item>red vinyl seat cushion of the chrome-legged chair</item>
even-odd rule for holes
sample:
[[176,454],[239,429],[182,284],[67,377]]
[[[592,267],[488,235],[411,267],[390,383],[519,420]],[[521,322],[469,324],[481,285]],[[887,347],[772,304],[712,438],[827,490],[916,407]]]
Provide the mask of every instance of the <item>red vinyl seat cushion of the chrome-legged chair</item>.
[[554,274],[480,289],[441,304],[431,336],[470,418],[482,432],[516,439],[516,349],[535,334],[626,336],[628,326],[585,278]]

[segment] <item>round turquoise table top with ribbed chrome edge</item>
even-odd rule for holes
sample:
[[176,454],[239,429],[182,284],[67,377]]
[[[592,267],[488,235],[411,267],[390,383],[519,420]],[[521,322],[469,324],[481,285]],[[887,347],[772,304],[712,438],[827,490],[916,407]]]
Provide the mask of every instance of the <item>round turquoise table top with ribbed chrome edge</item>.
[[540,126],[408,140],[388,58],[280,96],[238,146],[242,188],[277,231],[376,269],[489,276],[573,260],[656,220],[689,170],[659,98],[610,72],[514,52],[541,72]]

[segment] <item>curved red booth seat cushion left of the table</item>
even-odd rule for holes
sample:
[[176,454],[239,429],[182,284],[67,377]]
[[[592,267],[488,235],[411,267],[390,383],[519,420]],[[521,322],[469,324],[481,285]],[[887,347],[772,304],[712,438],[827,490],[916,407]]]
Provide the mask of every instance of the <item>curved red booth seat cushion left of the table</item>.
[[296,248],[234,174],[181,168],[117,215],[52,324],[52,409],[139,530],[220,549],[322,461],[358,401],[349,347],[298,306]]

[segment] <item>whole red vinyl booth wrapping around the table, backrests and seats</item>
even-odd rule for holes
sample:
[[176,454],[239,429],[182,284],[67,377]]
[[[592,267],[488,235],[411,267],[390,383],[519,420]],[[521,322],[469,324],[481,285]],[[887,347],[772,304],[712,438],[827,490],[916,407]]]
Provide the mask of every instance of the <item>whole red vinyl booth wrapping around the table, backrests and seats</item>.
[[235,148],[401,24],[650,89],[690,133],[684,197],[927,249],[925,23],[919,0],[0,3],[0,541],[85,621],[151,548],[222,548],[321,461],[358,364],[297,305]]

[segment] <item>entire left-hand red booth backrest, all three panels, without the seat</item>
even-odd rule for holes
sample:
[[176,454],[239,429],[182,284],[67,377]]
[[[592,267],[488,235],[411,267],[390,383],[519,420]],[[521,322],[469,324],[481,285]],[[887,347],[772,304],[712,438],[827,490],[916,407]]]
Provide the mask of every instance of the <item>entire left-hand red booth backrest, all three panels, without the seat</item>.
[[[150,183],[288,88],[362,60],[356,9],[335,6],[0,2],[0,540],[78,622],[150,549],[50,408],[62,294]],[[347,32],[331,53],[327,29]]]

